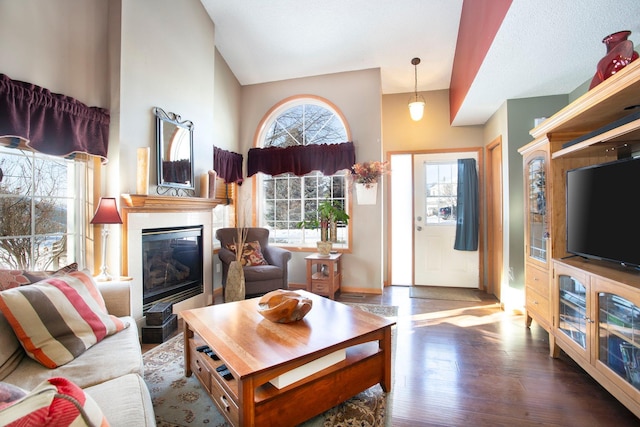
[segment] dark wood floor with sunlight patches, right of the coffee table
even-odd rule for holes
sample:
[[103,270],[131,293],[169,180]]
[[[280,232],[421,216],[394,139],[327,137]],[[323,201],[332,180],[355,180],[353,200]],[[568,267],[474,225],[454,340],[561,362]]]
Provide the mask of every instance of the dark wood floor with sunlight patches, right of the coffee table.
[[566,355],[550,358],[549,337],[535,322],[528,329],[523,316],[480,295],[480,303],[417,299],[403,286],[338,294],[399,307],[394,427],[640,425]]

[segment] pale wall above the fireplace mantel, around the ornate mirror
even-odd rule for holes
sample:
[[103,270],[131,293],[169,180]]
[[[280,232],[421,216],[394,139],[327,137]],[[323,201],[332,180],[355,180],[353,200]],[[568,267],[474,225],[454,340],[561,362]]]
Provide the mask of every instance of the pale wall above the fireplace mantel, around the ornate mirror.
[[[194,123],[196,176],[211,169],[215,45],[214,25],[204,7],[198,1],[123,1],[121,27],[120,146],[115,155],[120,184],[114,190],[135,193],[138,147],[153,147],[155,159],[153,107]],[[153,162],[151,183],[157,182],[156,173]]]

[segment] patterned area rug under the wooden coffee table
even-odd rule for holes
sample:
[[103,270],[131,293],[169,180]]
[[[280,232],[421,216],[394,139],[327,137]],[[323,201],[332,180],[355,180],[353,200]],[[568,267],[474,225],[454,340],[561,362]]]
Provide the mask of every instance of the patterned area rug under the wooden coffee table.
[[[349,304],[378,315],[396,316],[397,307]],[[395,328],[394,328],[395,329]],[[395,349],[395,330],[392,332]],[[195,375],[184,376],[182,334],[143,355],[144,379],[149,386],[158,427],[228,427]],[[390,425],[388,397],[379,384],[301,424],[301,427]]]

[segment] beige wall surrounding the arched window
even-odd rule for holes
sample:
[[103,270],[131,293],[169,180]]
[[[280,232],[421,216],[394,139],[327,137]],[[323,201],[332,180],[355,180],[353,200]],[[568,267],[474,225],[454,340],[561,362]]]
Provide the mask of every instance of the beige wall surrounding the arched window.
[[[254,137],[264,115],[278,102],[293,95],[310,94],[323,97],[342,111],[356,147],[356,159],[381,160],[381,94],[380,70],[349,73],[245,86],[242,89],[242,126],[240,152],[254,145]],[[245,169],[246,170],[246,169]],[[241,187],[241,202],[251,200],[251,182]],[[352,204],[352,253],[343,257],[345,288],[379,293],[382,289],[382,203]],[[308,252],[295,252],[289,263],[289,281],[306,282],[304,257]]]

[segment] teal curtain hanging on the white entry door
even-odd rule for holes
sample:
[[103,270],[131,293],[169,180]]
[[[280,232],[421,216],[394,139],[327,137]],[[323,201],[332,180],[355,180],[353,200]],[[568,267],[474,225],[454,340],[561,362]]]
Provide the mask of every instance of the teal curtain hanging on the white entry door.
[[478,250],[478,172],[475,159],[458,160],[458,211],[456,240],[458,251]]

